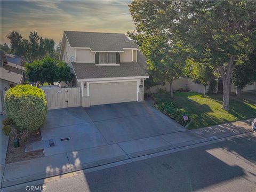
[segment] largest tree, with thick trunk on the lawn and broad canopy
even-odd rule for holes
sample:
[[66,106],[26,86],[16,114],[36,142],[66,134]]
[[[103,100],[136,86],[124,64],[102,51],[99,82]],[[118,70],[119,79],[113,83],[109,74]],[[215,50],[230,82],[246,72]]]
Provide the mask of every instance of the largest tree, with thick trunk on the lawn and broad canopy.
[[129,6],[139,34],[162,31],[165,42],[179,42],[190,58],[207,62],[220,73],[222,108],[229,110],[232,71],[255,47],[256,3],[135,0]]

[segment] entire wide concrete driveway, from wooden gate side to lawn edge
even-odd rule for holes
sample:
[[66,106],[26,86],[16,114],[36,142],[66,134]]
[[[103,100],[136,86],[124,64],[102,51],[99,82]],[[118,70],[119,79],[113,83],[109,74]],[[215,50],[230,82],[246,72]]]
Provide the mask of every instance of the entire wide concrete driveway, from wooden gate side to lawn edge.
[[147,102],[127,102],[49,110],[41,134],[55,142],[44,149],[49,156],[185,130]]

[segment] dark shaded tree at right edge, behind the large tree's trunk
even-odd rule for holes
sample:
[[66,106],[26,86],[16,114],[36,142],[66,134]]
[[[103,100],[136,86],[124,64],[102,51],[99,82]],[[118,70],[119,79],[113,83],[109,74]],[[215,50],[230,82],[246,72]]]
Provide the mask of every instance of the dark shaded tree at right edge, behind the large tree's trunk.
[[248,59],[234,68],[232,81],[236,88],[236,98],[241,97],[242,89],[256,81],[256,49]]

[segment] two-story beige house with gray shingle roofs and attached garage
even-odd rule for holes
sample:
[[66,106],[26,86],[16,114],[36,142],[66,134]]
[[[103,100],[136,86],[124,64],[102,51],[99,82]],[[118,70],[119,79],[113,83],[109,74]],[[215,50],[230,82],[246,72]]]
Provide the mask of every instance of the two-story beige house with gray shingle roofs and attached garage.
[[143,101],[146,59],[125,34],[64,31],[60,60],[73,68],[82,107]]

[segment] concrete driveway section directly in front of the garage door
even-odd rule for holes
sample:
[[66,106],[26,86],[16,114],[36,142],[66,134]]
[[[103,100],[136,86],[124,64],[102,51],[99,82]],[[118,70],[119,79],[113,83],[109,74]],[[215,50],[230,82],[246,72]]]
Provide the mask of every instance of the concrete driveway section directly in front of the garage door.
[[147,102],[92,106],[85,111],[108,144],[185,130]]

